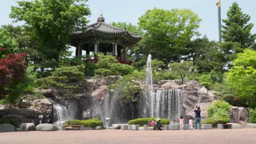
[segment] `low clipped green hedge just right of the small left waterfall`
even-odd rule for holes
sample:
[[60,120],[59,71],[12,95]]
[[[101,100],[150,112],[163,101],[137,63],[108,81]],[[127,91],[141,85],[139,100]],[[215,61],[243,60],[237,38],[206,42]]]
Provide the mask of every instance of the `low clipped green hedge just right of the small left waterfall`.
[[87,120],[78,120],[78,119],[71,119],[69,121],[63,122],[63,125],[84,125],[84,127],[97,127],[97,126],[102,126],[103,121],[101,121],[98,118],[92,118],[92,119],[87,119]]

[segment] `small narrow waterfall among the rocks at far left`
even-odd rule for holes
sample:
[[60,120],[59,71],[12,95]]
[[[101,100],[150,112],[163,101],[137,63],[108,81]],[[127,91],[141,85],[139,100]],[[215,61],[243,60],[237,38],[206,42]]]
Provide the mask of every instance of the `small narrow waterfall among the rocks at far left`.
[[66,106],[60,104],[53,104],[54,108],[54,121],[57,125],[61,124],[68,118],[68,112]]

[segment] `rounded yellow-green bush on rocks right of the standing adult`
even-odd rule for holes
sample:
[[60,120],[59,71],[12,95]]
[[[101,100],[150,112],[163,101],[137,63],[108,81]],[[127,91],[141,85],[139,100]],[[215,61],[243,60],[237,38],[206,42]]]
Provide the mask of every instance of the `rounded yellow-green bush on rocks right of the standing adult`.
[[229,103],[226,103],[224,100],[214,101],[210,106],[207,107],[207,116],[208,118],[213,116],[220,116],[229,118],[229,109],[232,106]]

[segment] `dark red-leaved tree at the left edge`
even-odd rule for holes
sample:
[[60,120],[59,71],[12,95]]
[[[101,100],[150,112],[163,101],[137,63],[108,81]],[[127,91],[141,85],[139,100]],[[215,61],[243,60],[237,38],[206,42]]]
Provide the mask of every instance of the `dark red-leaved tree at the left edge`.
[[[0,56],[5,49],[0,47]],[[26,73],[26,66],[22,61],[26,53],[9,53],[4,59],[0,59],[0,99],[4,98],[8,87],[21,81]]]

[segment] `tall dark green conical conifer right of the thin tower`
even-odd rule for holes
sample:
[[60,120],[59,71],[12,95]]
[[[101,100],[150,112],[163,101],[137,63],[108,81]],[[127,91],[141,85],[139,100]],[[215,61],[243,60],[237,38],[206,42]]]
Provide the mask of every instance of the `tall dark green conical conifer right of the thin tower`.
[[238,43],[242,49],[252,47],[256,34],[251,34],[253,23],[248,23],[251,16],[243,14],[242,9],[235,2],[230,7],[227,19],[222,20],[222,37],[225,42]]

